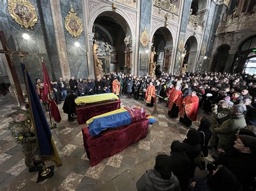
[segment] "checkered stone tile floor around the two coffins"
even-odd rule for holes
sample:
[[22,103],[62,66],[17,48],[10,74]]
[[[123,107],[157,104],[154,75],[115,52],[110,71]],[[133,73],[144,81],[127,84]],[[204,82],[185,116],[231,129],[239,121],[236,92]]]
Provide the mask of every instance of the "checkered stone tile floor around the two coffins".
[[[145,102],[121,97],[124,105],[140,105],[150,114],[152,108]],[[0,190],[136,190],[136,181],[154,165],[159,151],[170,153],[173,140],[183,140],[188,128],[167,116],[165,104],[158,104],[159,115],[153,115],[157,122],[151,133],[139,142],[100,164],[90,167],[83,147],[81,128],[77,122],[68,122],[67,116],[59,109],[62,122],[52,130],[63,166],[55,167],[52,178],[36,183],[37,173],[29,173],[24,164],[23,154],[10,136],[5,116],[12,112],[17,102],[10,95],[0,97]],[[199,111],[198,119],[203,114]],[[199,122],[193,122],[197,127]],[[52,162],[46,162],[46,166]],[[201,174],[201,173],[199,173]]]

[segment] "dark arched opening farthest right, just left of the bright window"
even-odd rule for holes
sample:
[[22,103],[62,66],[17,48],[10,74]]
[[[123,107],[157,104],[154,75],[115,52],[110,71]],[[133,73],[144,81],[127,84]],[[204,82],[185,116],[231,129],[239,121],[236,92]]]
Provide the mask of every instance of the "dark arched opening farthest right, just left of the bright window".
[[227,57],[228,57],[228,51],[230,50],[230,46],[228,45],[220,45],[217,48],[217,54],[214,55],[211,71],[214,72],[224,72]]

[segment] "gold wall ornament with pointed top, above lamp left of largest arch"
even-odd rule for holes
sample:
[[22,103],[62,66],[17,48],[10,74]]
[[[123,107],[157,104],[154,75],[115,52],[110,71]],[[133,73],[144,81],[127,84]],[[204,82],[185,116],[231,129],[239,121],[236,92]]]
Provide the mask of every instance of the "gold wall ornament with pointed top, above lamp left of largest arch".
[[71,5],[69,14],[65,17],[65,28],[72,37],[79,37],[83,32],[83,25],[73,6]]

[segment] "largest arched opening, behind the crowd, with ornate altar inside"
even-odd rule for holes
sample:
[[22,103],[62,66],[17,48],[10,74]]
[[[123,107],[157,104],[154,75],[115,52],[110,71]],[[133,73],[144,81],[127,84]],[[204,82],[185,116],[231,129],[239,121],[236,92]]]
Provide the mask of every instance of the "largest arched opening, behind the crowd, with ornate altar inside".
[[102,62],[102,72],[129,73],[132,51],[126,49],[131,50],[132,36],[126,20],[116,12],[105,11],[95,19],[92,32],[94,43],[97,44],[94,56],[97,62]]

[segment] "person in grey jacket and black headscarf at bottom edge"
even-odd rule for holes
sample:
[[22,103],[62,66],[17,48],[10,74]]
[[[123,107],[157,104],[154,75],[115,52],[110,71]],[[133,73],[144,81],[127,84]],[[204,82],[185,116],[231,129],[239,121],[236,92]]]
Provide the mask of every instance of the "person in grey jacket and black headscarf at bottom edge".
[[172,158],[166,154],[157,155],[154,169],[147,170],[136,182],[137,190],[180,190],[171,169]]

